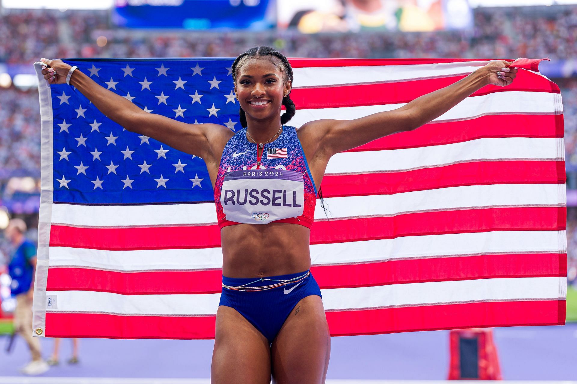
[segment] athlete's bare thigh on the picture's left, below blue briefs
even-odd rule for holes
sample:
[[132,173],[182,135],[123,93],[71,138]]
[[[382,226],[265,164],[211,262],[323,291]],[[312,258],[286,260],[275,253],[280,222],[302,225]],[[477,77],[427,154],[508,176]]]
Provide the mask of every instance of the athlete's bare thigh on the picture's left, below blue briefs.
[[237,310],[219,306],[216,311],[211,383],[270,382],[271,350],[268,340]]

